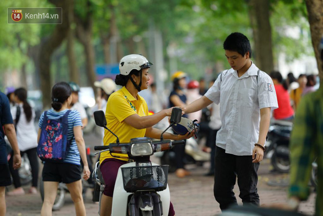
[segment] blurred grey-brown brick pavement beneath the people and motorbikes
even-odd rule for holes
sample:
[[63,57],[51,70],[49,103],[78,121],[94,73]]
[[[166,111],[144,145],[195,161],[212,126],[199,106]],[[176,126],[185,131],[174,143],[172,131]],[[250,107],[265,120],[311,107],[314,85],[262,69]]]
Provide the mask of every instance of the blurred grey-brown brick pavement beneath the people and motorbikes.
[[[155,159],[156,160],[156,159]],[[157,161],[158,162],[158,161]],[[171,201],[174,204],[176,216],[215,216],[220,213],[218,203],[213,196],[213,177],[206,177],[203,174],[208,171],[208,164],[205,167],[188,166],[192,175],[179,179],[174,173],[168,177],[168,185],[171,192]],[[287,174],[272,173],[269,171],[270,161],[265,159],[260,165],[258,174],[258,192],[261,204],[281,203],[286,201],[286,187],[268,186],[268,181],[279,181],[288,178]],[[12,188],[10,187],[10,190]],[[25,191],[28,187],[24,188]],[[234,188],[236,195],[238,188]],[[237,197],[238,203],[241,200]],[[73,216],[75,209],[69,194],[66,196],[64,207],[53,216]],[[40,215],[42,199],[40,194],[26,194],[23,196],[6,196],[7,216],[36,216]],[[314,214],[315,194],[311,194],[308,201],[303,202],[300,211],[307,214]],[[88,190],[85,206],[87,216],[97,216],[98,204],[92,202],[91,192]]]

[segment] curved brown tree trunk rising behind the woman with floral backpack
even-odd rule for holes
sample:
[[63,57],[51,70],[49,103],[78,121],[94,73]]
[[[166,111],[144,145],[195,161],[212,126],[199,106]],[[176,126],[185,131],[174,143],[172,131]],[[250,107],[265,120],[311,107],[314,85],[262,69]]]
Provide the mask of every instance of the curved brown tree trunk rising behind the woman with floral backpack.
[[[48,109],[51,104],[51,77],[50,77],[50,57],[53,51],[58,48],[62,41],[66,38],[69,31],[68,16],[73,10],[73,0],[51,0],[56,7],[63,8],[62,24],[56,24],[53,33],[47,37],[40,47],[39,68],[41,90],[43,93],[43,108]],[[65,22],[64,22],[65,21]]]

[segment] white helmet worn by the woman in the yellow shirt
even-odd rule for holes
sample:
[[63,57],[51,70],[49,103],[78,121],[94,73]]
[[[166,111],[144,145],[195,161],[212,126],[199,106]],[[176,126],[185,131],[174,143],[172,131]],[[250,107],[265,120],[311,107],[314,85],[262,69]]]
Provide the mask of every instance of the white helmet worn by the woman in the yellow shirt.
[[131,54],[121,58],[119,63],[119,71],[122,75],[129,75],[133,69],[140,71],[144,68],[150,68],[151,65],[152,63],[150,63],[144,56]]

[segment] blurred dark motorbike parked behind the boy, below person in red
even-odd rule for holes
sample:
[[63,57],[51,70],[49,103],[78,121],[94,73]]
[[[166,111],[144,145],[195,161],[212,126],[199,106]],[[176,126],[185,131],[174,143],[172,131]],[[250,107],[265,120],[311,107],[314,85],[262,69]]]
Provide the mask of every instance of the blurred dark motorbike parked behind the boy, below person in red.
[[275,120],[268,131],[266,157],[271,158],[275,170],[282,173],[289,172],[289,140],[293,123]]

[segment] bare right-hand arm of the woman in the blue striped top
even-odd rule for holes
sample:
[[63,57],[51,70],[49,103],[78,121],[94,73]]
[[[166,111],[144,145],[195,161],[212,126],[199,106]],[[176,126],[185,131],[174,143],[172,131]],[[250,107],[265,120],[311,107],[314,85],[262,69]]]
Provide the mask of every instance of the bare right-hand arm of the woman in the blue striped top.
[[84,143],[84,139],[83,139],[83,136],[82,136],[81,126],[73,127],[73,132],[74,132],[75,142],[77,144],[78,151],[80,152],[80,156],[81,156],[82,162],[84,164],[83,178],[85,180],[87,180],[88,178],[90,178],[91,173],[90,173],[90,169],[89,169],[89,165],[88,165],[88,160],[87,160],[87,157],[86,157],[85,143]]

